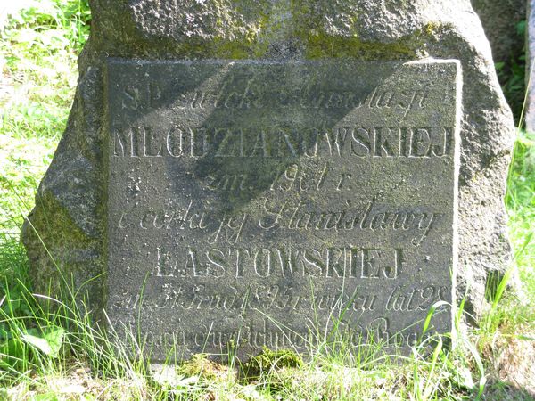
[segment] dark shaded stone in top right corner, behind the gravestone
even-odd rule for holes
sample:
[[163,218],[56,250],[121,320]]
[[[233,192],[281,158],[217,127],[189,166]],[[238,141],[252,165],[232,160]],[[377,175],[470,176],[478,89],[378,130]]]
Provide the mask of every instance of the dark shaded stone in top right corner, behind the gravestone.
[[530,0],[472,0],[489,38],[495,61],[509,61],[522,53],[523,41],[516,34],[518,22],[526,19]]

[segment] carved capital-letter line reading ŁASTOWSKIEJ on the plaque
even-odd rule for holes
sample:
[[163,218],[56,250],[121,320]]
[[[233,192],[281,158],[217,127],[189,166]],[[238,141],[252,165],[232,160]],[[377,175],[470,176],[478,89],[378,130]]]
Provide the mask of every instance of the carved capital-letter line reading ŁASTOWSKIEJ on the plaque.
[[325,248],[299,250],[246,248],[198,250],[188,248],[186,255],[171,250],[156,250],[152,274],[157,277],[234,277],[256,275],[267,278],[325,277],[396,279],[403,270],[402,249]]

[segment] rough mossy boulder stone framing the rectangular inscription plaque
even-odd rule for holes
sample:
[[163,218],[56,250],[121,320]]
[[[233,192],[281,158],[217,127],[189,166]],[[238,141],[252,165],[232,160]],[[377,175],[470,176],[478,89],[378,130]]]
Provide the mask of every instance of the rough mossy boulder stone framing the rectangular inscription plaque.
[[[509,261],[505,179],[514,136],[490,45],[467,0],[93,0],[92,33],[78,61],[69,124],[24,226],[36,291],[105,273],[107,177],[103,70],[108,57],[137,59],[351,58],[461,61],[457,291],[481,312],[485,282]],[[35,235],[33,227],[40,234]],[[45,242],[47,251],[41,244]],[[53,256],[56,265],[48,255]],[[86,282],[95,311],[103,283]],[[80,291],[84,292],[84,291]]]

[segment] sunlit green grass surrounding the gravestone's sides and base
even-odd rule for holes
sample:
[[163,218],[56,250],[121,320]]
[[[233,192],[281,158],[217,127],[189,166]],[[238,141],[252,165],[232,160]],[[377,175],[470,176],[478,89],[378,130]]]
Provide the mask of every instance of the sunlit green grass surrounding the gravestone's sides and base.
[[[465,327],[461,307],[451,348],[444,346],[448,336],[435,337],[393,360],[381,344],[350,345],[333,331],[309,342],[305,362],[267,349],[249,364],[196,356],[153,373],[144,344],[134,337],[112,346],[121,341],[95,329],[86,310],[68,301],[69,285],[65,303],[37,300],[18,236],[65,127],[89,20],[85,0],[48,0],[1,32],[0,399],[531,399],[504,373],[535,364],[535,135],[523,131],[506,205],[525,299],[505,291],[503,280],[479,329],[470,332],[458,332]],[[517,76],[506,83],[512,99],[523,90]]]

